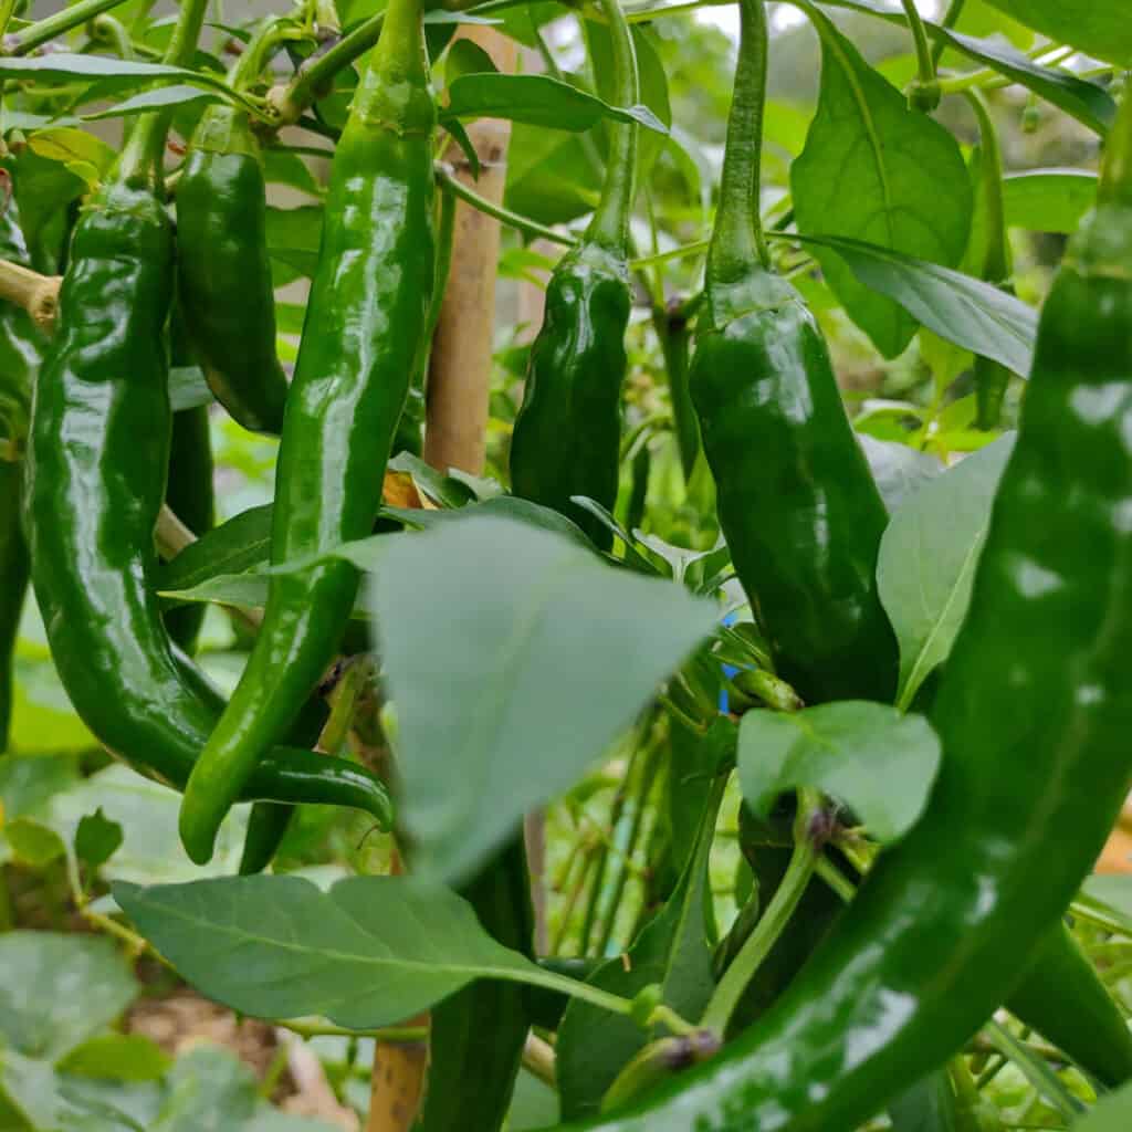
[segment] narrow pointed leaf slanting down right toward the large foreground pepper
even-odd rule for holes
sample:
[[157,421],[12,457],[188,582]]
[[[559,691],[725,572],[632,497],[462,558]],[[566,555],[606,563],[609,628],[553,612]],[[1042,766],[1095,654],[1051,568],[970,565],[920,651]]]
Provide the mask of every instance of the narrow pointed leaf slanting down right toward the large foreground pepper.
[[1015,374],[1030,372],[1038,315],[1013,295],[961,272],[859,240],[794,239],[834,251],[861,286],[891,298],[947,342]]

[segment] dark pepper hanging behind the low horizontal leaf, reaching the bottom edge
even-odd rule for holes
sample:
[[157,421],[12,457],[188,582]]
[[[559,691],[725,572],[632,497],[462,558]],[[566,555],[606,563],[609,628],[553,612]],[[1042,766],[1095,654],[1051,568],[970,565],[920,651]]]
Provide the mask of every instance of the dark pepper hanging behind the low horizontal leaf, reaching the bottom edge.
[[[533,959],[530,883],[520,834],[460,894],[499,943]],[[436,1006],[420,1132],[501,1129],[530,1027],[528,995],[517,984],[480,979]]]

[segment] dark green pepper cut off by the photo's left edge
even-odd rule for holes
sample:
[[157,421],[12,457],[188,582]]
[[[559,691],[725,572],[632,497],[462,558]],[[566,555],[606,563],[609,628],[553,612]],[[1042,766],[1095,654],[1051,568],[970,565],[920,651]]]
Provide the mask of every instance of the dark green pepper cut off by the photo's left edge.
[[[0,257],[28,264],[14,200],[0,215]],[[12,659],[31,571],[20,496],[27,412],[41,351],[42,336],[31,318],[11,303],[0,303],[0,753],[8,749]]]

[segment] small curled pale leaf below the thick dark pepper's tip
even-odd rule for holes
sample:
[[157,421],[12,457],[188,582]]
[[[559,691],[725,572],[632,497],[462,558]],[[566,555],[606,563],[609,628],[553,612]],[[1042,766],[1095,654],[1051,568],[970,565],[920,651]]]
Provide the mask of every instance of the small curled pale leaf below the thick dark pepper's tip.
[[923,715],[876,703],[792,713],[748,712],[739,724],[739,783],[770,816],[779,795],[815,787],[844,803],[882,844],[902,838],[927,804],[940,740]]

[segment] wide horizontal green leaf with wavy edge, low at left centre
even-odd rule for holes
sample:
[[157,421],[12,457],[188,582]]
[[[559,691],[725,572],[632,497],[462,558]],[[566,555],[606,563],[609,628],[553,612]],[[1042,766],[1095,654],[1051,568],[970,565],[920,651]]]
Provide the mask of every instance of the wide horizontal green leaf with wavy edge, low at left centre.
[[419,876],[355,876],[323,892],[245,876],[114,898],[207,997],[256,1018],[394,1026],[477,978],[554,980],[500,946],[454,892]]

